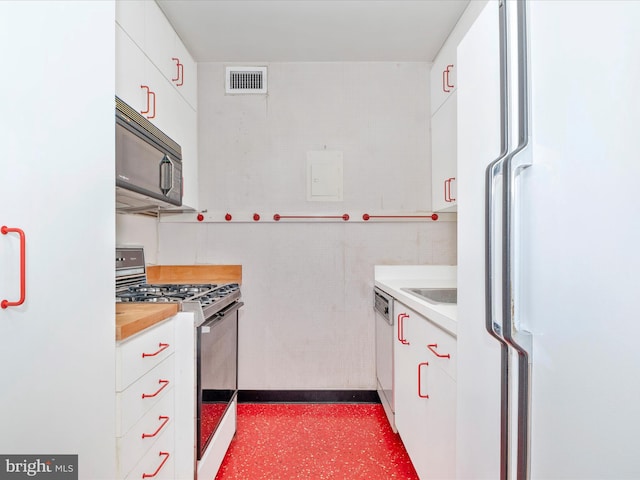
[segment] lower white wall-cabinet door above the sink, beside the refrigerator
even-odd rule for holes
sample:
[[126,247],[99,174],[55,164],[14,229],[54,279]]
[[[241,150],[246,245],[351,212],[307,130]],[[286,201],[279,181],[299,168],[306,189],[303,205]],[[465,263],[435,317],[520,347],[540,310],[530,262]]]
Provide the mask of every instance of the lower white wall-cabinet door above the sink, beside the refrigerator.
[[457,210],[456,119],[457,93],[454,92],[431,117],[431,209]]

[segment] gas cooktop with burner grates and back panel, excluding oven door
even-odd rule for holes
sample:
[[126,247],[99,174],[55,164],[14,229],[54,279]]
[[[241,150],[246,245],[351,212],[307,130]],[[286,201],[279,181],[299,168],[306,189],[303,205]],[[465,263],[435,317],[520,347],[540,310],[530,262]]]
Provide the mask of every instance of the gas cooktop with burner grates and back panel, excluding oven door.
[[237,283],[147,283],[142,247],[116,248],[116,302],[178,303],[181,311],[196,314],[200,326],[240,297]]

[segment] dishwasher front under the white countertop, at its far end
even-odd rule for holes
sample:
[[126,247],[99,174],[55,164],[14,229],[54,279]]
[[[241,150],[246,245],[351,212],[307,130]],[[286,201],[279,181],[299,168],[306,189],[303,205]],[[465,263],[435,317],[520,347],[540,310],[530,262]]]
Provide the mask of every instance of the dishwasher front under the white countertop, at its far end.
[[377,391],[391,428],[396,432],[393,401],[393,297],[374,287],[373,309],[376,317]]

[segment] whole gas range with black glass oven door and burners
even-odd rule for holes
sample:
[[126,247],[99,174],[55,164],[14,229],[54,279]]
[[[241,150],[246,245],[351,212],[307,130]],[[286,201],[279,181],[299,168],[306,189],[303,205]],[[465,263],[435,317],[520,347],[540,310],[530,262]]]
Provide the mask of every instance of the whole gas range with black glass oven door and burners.
[[196,442],[192,444],[198,461],[207,449],[220,450],[227,433],[216,446],[210,444],[219,438],[215,435],[219,427],[229,432],[236,415],[238,310],[244,305],[240,297],[237,283],[149,283],[142,247],[116,247],[116,302],[177,303],[180,311],[195,314]]

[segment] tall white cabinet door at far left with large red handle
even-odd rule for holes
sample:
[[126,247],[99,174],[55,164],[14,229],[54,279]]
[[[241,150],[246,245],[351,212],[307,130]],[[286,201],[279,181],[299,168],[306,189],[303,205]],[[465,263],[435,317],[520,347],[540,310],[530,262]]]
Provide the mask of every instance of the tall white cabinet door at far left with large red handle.
[[[0,452],[115,476],[112,2],[0,2]],[[10,68],[9,68],[10,67]],[[45,407],[46,405],[46,407]],[[4,475],[3,475],[4,476]],[[10,476],[10,475],[9,475]]]

